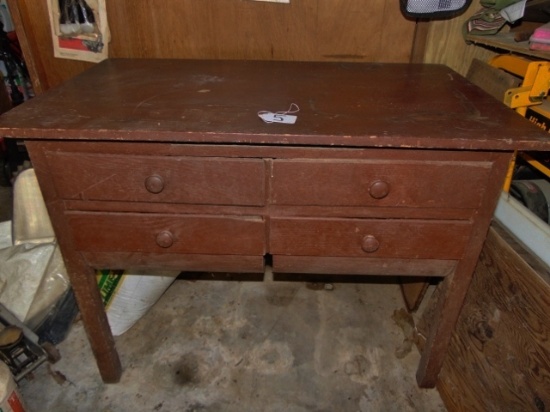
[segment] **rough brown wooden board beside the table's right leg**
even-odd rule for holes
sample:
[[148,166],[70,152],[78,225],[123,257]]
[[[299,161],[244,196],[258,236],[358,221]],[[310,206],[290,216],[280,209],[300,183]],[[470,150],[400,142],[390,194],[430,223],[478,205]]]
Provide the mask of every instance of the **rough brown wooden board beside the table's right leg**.
[[493,224],[443,365],[453,411],[550,405],[550,272]]

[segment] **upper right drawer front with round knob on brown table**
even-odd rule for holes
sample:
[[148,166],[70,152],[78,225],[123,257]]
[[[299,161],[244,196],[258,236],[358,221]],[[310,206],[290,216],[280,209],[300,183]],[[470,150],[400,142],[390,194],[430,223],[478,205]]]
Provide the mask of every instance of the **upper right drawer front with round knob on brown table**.
[[278,205],[476,208],[490,162],[276,160]]

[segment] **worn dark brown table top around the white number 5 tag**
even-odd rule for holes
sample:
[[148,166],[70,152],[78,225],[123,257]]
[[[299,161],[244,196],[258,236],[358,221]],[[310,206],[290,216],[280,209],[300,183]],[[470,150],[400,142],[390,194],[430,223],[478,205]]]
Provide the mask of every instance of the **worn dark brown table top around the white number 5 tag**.
[[[260,111],[299,106],[295,124]],[[0,117],[0,135],[550,150],[543,130],[442,65],[110,59]]]

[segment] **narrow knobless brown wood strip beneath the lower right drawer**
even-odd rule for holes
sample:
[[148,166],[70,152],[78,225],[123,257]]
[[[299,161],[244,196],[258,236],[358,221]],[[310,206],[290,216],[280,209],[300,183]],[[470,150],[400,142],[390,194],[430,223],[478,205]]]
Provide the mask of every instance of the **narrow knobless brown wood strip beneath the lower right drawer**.
[[273,272],[326,275],[447,276],[454,260],[273,256]]

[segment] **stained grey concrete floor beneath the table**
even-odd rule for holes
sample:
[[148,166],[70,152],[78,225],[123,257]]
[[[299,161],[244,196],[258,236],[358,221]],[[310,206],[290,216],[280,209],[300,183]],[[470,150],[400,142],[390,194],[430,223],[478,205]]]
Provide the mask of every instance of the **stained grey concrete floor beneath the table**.
[[391,279],[227,278],[176,280],[117,337],[119,384],[102,383],[77,321],[61,360],[20,382],[29,411],[445,410],[416,385],[419,354],[394,319],[403,302]]

